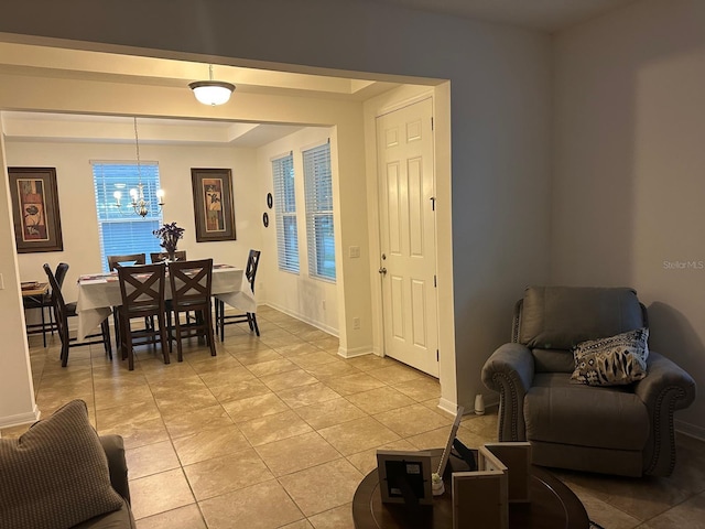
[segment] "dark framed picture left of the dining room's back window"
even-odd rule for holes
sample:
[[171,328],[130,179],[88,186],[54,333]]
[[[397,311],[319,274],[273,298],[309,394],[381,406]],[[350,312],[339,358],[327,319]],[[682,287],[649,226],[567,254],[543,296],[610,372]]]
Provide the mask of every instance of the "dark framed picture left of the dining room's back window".
[[62,251],[55,168],[8,168],[18,253]]

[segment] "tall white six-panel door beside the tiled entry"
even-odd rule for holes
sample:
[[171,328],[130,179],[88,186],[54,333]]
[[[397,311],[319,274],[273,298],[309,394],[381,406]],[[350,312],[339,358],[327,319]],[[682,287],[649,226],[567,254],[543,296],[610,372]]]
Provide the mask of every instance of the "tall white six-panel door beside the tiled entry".
[[432,101],[377,118],[384,353],[438,376]]

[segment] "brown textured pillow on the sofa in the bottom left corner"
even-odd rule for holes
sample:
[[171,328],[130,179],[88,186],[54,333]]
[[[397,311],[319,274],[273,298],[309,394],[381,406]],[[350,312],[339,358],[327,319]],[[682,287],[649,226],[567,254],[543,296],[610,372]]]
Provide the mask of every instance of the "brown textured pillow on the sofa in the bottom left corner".
[[83,400],[0,439],[0,527],[68,529],[122,506]]

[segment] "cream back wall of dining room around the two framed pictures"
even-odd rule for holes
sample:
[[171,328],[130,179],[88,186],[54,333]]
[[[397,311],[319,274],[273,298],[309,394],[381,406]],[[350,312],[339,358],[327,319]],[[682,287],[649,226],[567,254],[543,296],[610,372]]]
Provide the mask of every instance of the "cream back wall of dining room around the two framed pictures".
[[[76,280],[82,273],[101,270],[100,241],[96,219],[90,160],[134,160],[134,145],[109,143],[7,142],[8,164],[56,168],[62,214],[64,251],[18,256],[22,281],[45,279],[42,264],[52,269],[59,261],[69,264],[64,288],[66,300],[76,300]],[[259,208],[251,186],[256,174],[254,151],[250,149],[165,147],[141,144],[142,160],[158,161],[165,191],[163,218],[185,228],[178,249],[193,259],[213,257],[216,262],[245,266],[249,248],[260,244]],[[191,168],[232,170],[237,240],[196,242]]]

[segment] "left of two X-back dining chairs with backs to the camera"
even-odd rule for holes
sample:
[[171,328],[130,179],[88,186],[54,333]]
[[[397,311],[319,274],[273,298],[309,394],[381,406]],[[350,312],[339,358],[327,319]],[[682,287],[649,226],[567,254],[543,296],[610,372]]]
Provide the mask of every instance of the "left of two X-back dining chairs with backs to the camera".
[[[122,305],[118,311],[120,349],[122,359],[128,358],[128,369],[134,369],[134,346],[160,343],[164,364],[169,364],[169,338],[166,336],[164,264],[135,264],[118,267]],[[135,317],[156,321],[156,325],[132,328]]]

